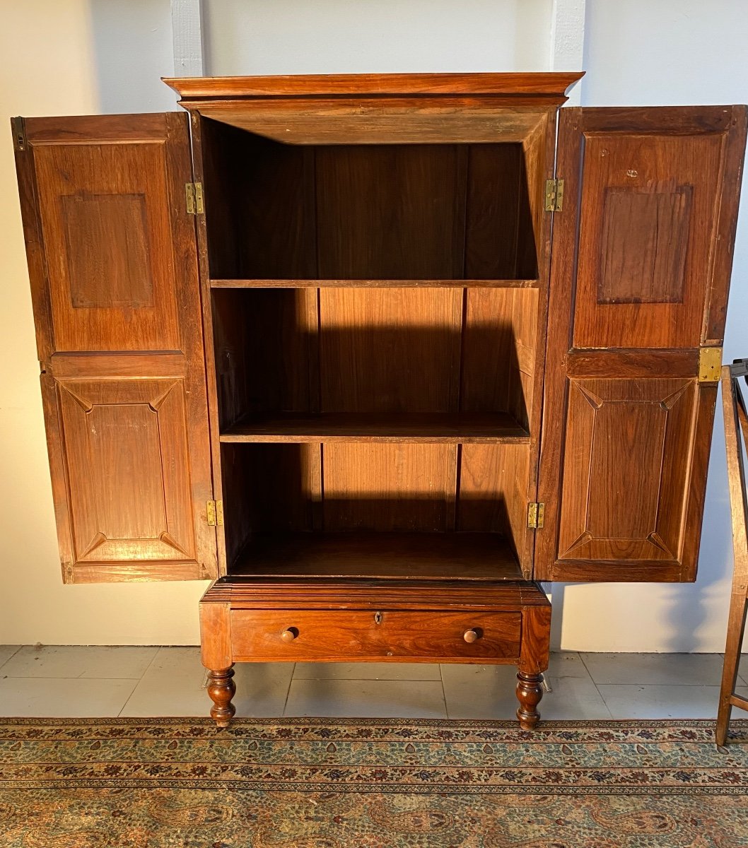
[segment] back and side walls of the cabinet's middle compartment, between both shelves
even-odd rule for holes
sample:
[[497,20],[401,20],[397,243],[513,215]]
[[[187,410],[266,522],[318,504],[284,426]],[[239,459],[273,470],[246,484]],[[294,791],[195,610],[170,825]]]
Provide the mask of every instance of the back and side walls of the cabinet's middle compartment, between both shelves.
[[535,289],[215,289],[221,430],[277,412],[505,412],[529,429]]

